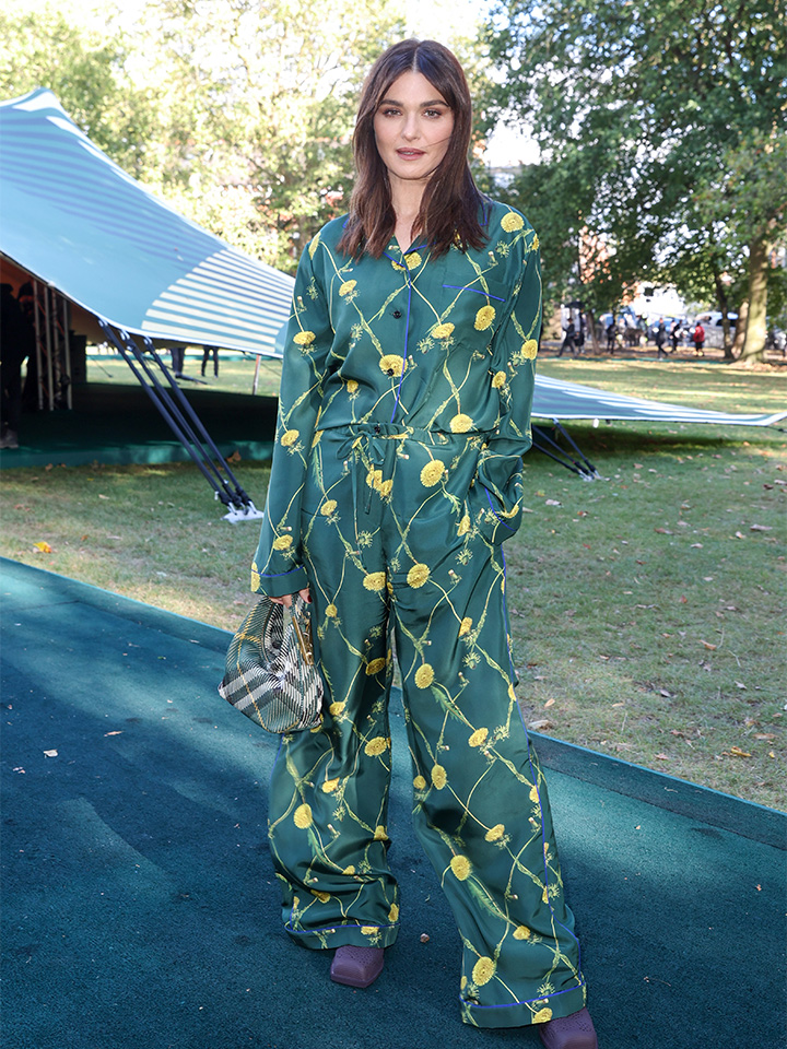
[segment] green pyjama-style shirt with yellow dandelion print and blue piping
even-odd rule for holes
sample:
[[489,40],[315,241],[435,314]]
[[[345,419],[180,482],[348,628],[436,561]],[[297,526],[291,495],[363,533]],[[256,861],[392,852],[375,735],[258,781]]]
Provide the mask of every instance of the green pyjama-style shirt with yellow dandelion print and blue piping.
[[379,259],[337,250],[345,219],[305,249],[285,337],[277,439],[251,589],[307,585],[301,493],[313,443],[333,427],[391,425],[478,438],[477,481],[503,517],[531,444],[541,328],[538,236],[507,205],[484,208],[488,243],[432,258],[392,238]]

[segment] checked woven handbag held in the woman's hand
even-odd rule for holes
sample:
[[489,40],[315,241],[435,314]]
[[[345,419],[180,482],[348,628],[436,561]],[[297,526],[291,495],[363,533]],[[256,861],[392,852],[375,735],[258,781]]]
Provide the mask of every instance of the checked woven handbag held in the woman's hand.
[[308,604],[263,597],[230,643],[219,694],[268,732],[320,723],[322,679],[315,664]]

